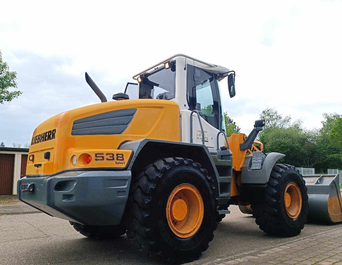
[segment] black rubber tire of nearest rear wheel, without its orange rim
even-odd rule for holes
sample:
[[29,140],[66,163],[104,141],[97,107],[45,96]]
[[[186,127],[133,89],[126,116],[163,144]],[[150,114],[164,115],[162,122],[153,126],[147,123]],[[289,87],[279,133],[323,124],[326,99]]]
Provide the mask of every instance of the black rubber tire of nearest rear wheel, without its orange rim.
[[[171,192],[181,184],[197,188],[204,204],[203,221],[196,234],[177,237],[170,229],[166,205]],[[216,206],[213,180],[199,163],[183,158],[165,158],[134,174],[126,206],[127,236],[149,256],[182,264],[207,250],[214,238]]]

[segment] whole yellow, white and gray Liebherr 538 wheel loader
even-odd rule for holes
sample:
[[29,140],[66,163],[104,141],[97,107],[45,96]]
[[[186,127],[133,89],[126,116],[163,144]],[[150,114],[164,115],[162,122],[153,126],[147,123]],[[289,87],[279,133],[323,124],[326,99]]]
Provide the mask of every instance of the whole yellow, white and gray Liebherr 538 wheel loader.
[[[176,54],[134,75],[137,83],[107,102],[86,73],[102,103],[35,129],[19,200],[90,238],[127,234],[141,251],[170,263],[207,250],[230,205],[252,213],[266,233],[299,234],[309,209],[305,181],[292,165],[276,163],[283,154],[265,154],[255,141],[264,120],[248,136],[226,136],[226,77],[233,97],[234,71]],[[306,184],[320,203],[316,218],[326,211],[323,217],[341,221],[341,195],[332,194],[338,175],[310,176]]]

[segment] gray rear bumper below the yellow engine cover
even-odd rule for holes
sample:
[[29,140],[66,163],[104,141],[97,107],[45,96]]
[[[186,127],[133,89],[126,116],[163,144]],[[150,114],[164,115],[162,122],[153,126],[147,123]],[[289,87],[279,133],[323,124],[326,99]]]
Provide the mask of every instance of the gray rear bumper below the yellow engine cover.
[[[22,184],[34,183],[33,193]],[[118,225],[126,206],[131,171],[69,171],[18,181],[19,200],[51,216],[84,225]]]

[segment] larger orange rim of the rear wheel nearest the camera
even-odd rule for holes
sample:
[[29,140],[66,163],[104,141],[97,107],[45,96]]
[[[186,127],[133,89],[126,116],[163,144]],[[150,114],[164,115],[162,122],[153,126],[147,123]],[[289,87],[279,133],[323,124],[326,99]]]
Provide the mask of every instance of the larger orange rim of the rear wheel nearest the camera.
[[203,221],[204,204],[198,189],[191,184],[175,187],[166,204],[166,218],[172,232],[181,238],[196,234]]

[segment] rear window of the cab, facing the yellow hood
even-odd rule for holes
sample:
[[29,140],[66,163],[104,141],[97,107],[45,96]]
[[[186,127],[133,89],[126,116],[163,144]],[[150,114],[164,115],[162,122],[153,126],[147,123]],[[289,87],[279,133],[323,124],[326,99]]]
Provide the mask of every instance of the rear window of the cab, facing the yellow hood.
[[139,98],[154,98],[157,100],[171,100],[175,98],[176,67],[165,69],[161,67],[143,76],[139,83]]

